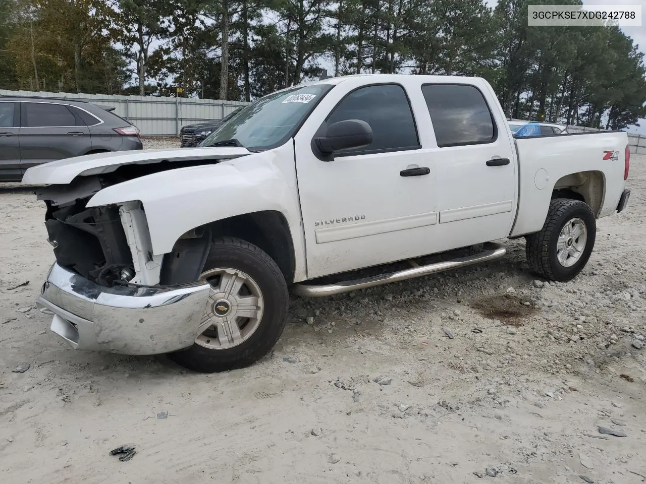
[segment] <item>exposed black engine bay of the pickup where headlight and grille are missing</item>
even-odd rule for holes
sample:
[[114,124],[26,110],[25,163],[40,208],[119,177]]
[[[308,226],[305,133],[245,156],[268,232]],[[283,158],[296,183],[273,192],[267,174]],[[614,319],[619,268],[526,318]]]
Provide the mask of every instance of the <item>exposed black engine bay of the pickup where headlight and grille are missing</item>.
[[[120,207],[108,205],[88,208],[90,198],[103,188],[138,177],[220,161],[209,159],[123,165],[106,174],[78,176],[67,185],[39,188],[36,195],[47,205],[45,226],[57,263],[105,287],[127,283],[135,276],[141,262],[152,261],[152,254],[146,254],[144,261],[133,262]],[[143,212],[141,203],[138,203],[138,208]]]

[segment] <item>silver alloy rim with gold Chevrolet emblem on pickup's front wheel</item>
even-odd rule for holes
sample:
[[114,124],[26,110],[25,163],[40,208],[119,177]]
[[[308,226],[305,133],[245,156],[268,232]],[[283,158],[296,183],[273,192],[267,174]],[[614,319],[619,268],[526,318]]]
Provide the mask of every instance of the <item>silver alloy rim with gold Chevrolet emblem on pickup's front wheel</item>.
[[200,279],[211,289],[195,342],[209,350],[226,350],[251,338],[264,310],[256,281],[241,270],[226,267],[207,270]]

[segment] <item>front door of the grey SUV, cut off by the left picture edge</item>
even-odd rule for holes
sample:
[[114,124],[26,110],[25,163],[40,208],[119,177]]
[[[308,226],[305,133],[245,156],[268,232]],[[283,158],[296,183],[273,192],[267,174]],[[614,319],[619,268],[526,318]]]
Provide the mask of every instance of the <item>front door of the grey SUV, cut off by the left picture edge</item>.
[[19,181],[20,110],[17,103],[0,101],[0,181]]

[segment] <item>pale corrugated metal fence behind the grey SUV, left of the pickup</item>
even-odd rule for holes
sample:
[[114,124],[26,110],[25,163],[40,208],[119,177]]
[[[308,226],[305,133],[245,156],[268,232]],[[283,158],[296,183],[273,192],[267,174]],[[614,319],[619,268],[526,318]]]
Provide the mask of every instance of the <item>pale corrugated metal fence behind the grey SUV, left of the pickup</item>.
[[222,119],[240,106],[249,104],[220,99],[108,96],[107,94],[10,91],[5,89],[0,89],[0,96],[65,97],[114,106],[114,113],[134,123],[140,129],[141,136],[177,136],[182,126],[200,121]]

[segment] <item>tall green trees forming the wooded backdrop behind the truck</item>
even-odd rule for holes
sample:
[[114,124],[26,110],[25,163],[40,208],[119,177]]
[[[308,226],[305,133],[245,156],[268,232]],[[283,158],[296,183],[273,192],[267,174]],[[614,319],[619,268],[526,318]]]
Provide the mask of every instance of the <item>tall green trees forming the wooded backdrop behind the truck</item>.
[[0,87],[250,100],[326,68],[482,76],[520,119],[623,128],[646,115],[632,39],[527,26],[530,3],[581,2],[0,0]]

